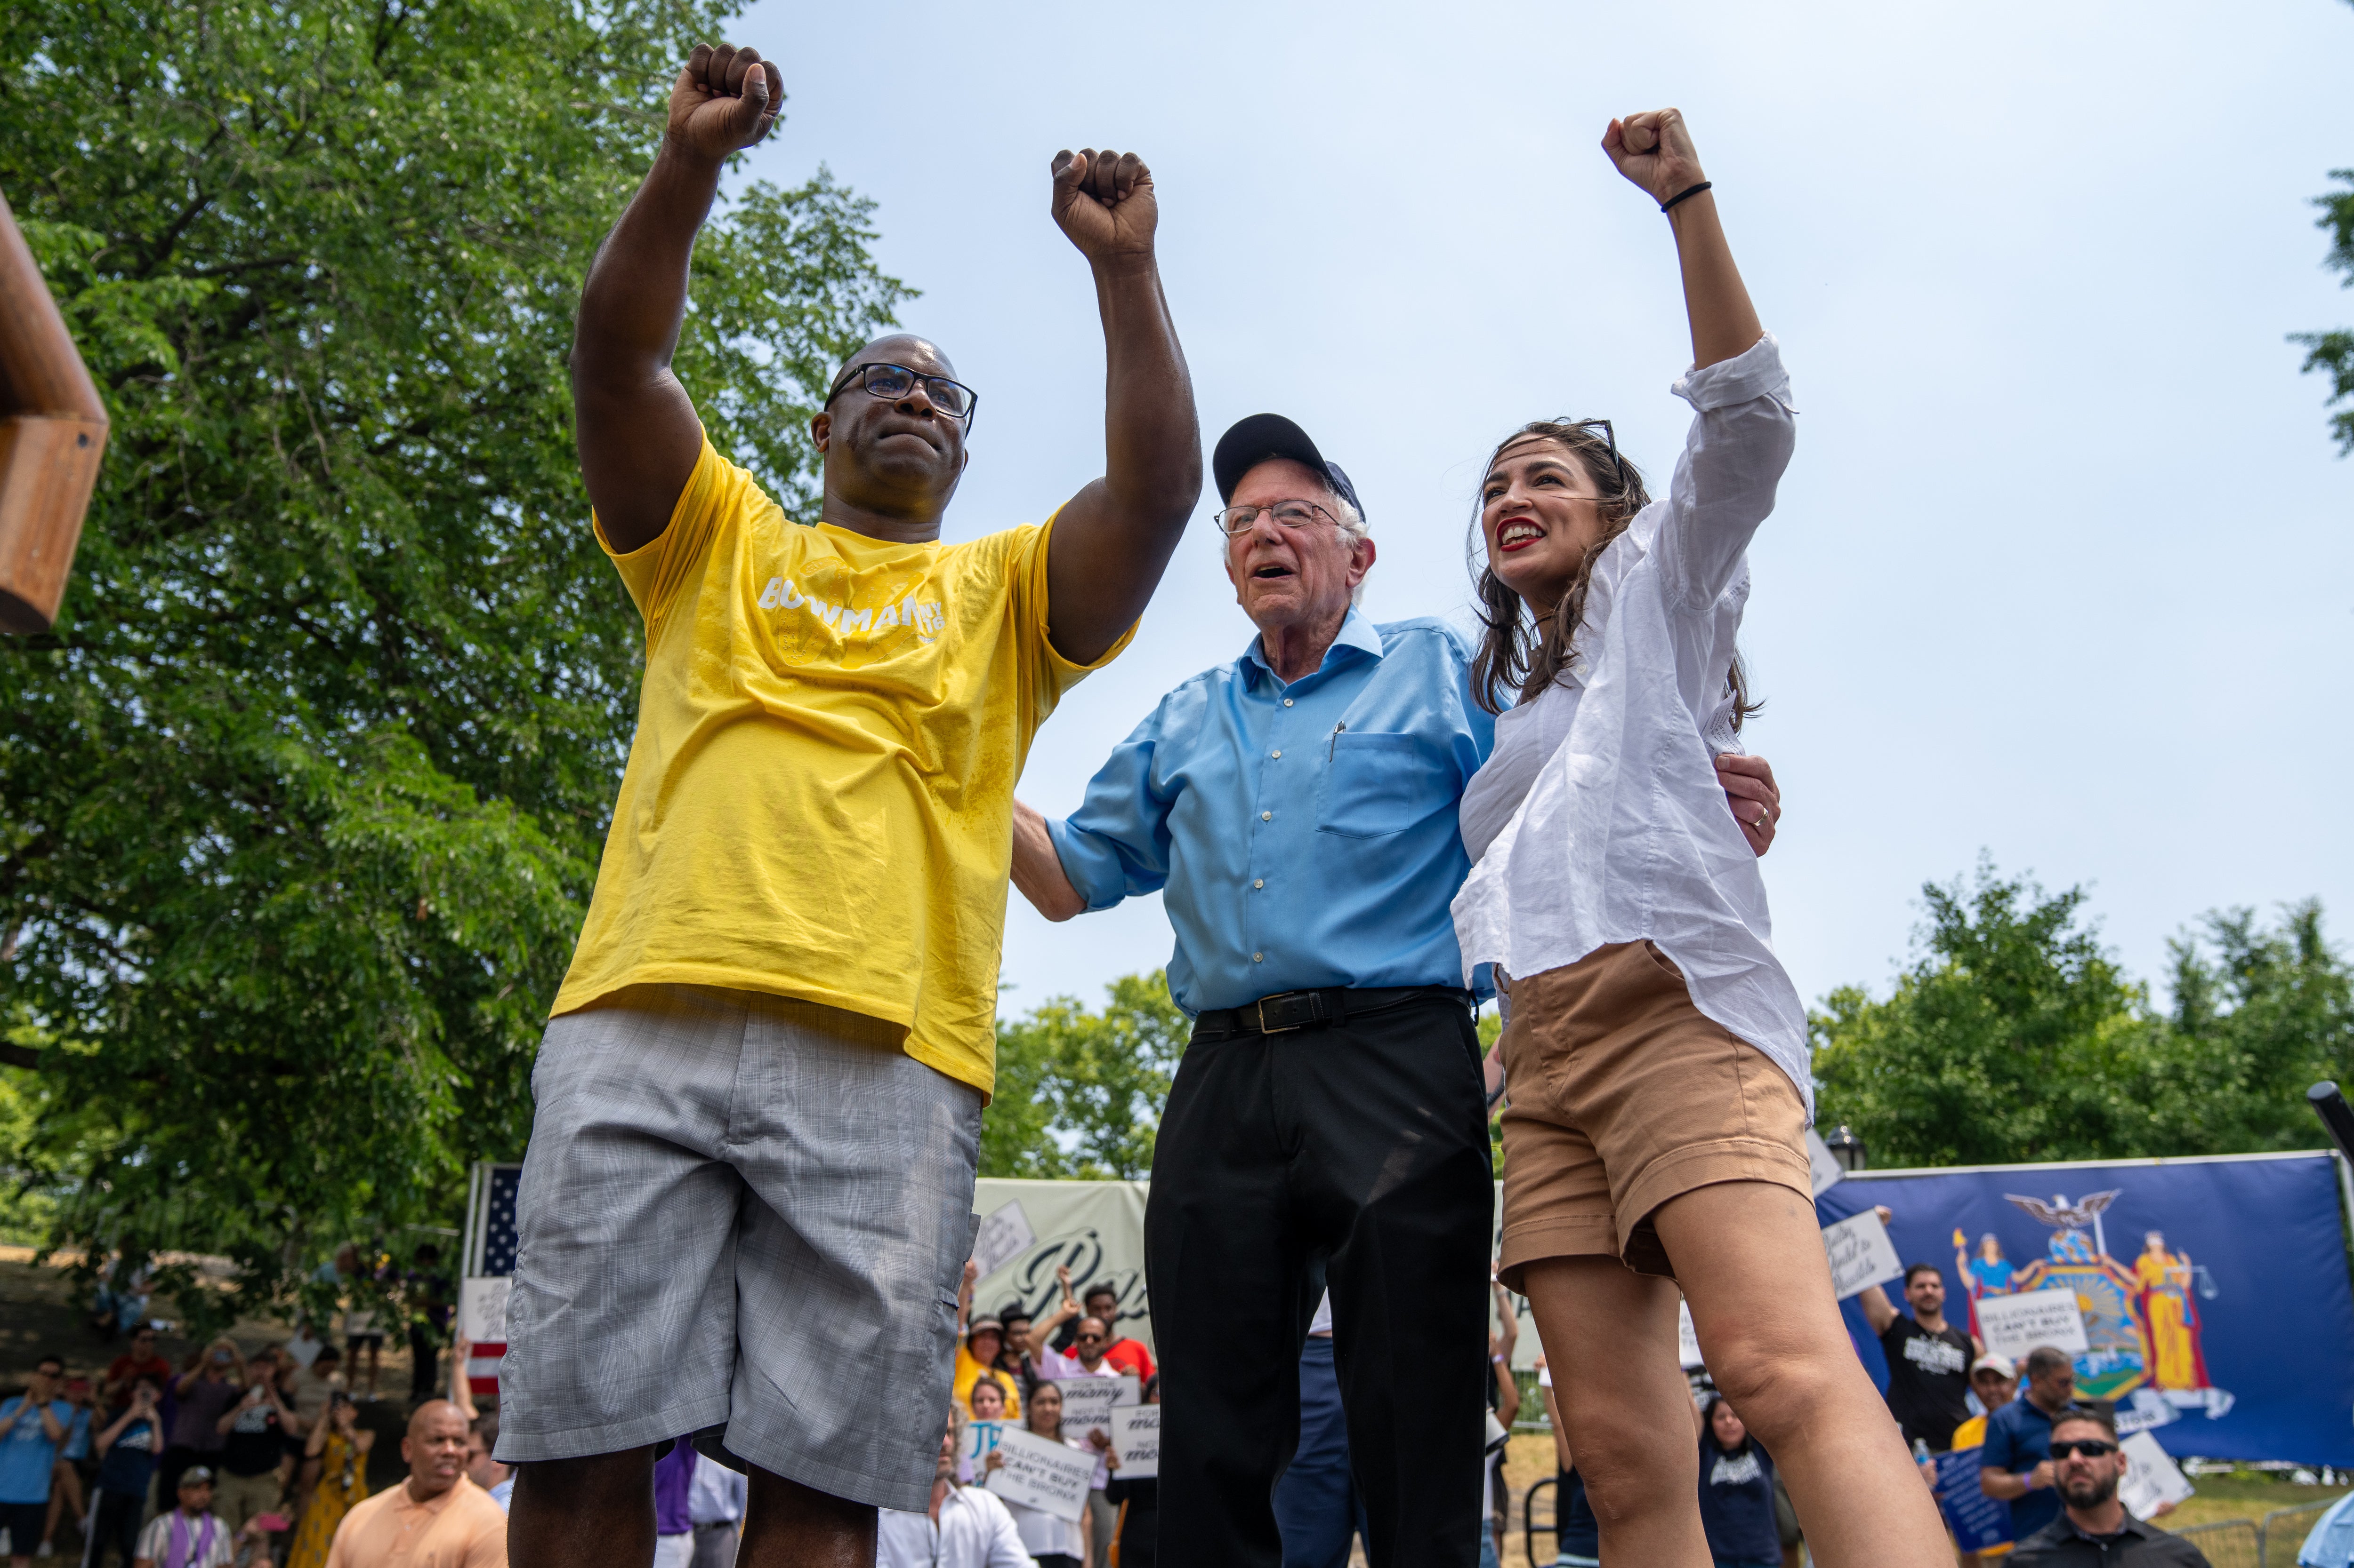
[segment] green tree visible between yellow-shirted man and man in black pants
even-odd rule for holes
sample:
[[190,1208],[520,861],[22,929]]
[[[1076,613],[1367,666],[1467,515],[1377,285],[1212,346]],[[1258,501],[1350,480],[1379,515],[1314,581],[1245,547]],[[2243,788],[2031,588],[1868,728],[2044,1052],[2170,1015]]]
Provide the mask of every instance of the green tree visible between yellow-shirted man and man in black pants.
[[1168,976],[1123,976],[1102,1013],[1050,997],[998,1020],[998,1091],[982,1117],[982,1175],[1144,1180],[1191,1025]]

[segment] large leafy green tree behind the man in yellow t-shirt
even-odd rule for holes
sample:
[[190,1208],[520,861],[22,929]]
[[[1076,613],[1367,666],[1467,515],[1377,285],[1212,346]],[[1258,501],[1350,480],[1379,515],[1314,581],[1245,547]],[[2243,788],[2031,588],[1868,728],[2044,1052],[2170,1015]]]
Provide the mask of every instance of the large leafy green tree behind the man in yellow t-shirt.
[[[0,646],[0,1051],[54,1241],[287,1293],[513,1154],[626,755],[574,289],[716,0],[14,0],[0,188],[113,416]],[[680,374],[789,508],[906,289],[824,172],[697,252]],[[193,1307],[188,1309],[195,1316]]]

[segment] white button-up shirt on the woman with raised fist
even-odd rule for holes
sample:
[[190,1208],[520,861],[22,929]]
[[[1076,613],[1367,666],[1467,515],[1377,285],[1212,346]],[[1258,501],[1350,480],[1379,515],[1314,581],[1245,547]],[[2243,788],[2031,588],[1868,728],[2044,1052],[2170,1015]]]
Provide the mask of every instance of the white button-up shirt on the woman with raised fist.
[[1464,980],[1535,976],[1653,940],[1693,1004],[1770,1056],[1813,1114],[1806,1006],[1773,954],[1758,860],[1725,811],[1740,750],[1725,670],[1749,602],[1749,536],[1789,465],[1782,350],[1674,386],[1697,409],[1676,477],[1594,562],[1568,677],[1495,724],[1462,802],[1476,865],[1455,896]]

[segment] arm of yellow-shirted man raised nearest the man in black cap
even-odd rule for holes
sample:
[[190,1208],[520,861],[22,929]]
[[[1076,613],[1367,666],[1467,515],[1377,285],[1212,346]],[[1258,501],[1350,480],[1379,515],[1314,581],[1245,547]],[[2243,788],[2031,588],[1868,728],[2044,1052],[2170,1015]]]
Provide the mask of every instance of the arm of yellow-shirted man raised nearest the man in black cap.
[[1201,421],[1153,259],[1158,216],[1135,153],[1055,155],[1055,221],[1088,259],[1104,317],[1104,477],[1062,508],[1045,562],[1048,637],[1083,665],[1144,614],[1201,498]]

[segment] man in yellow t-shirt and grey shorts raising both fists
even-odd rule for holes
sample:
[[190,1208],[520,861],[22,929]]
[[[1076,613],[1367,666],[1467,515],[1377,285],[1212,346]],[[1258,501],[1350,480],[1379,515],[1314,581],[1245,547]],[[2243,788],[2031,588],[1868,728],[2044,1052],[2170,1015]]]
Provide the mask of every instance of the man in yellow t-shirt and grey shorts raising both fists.
[[716,1427],[751,1472],[749,1568],[871,1561],[876,1507],[927,1505],[1015,778],[1201,494],[1151,174],[1083,150],[1052,214],[1104,320],[1104,477],[944,545],[977,395],[887,336],[829,388],[824,501],[786,520],[669,364],[723,160],[779,96],[758,52],[697,47],[581,289],[581,477],[645,679],[532,1074],[497,1450],[520,1568],[645,1561],[657,1453]]

